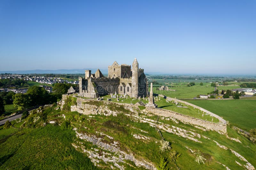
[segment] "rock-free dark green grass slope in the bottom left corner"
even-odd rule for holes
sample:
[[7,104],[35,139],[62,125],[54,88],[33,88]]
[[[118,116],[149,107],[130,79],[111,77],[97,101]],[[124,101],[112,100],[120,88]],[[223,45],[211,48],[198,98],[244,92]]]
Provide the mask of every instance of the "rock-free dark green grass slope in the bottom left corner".
[[23,129],[0,140],[0,169],[98,169],[71,145],[75,138],[60,126]]

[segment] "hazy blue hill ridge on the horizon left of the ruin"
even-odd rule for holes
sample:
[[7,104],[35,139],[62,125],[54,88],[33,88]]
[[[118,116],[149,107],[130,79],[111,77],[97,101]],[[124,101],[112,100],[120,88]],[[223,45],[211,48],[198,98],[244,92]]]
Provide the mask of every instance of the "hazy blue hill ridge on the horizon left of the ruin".
[[[60,69],[60,70],[17,70],[17,71],[0,71],[1,73],[11,73],[11,74],[84,74],[84,70],[92,70],[95,73],[97,69]],[[108,69],[100,69],[103,74],[108,74]]]

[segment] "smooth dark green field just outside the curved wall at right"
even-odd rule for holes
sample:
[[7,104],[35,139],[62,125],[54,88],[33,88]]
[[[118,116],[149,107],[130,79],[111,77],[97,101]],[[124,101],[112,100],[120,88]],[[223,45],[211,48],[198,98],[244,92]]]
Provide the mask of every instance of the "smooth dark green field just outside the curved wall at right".
[[256,128],[256,100],[187,100],[223,117],[236,127]]

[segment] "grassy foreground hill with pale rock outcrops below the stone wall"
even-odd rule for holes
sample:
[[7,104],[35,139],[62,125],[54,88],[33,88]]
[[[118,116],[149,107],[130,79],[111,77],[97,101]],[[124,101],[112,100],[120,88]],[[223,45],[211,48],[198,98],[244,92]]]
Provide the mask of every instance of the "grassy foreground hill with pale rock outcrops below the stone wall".
[[[248,162],[256,166],[256,145],[229,127],[227,137],[143,110],[135,113],[115,104],[88,104],[109,112],[81,115],[55,106],[40,108],[14,124],[22,124],[20,129],[0,129],[0,169],[145,169],[143,164],[158,167],[162,158],[169,169],[244,169]],[[61,128],[64,120],[71,122],[73,130]],[[162,137],[156,128],[170,142],[169,150],[159,150]],[[197,150],[204,164],[195,162]]]

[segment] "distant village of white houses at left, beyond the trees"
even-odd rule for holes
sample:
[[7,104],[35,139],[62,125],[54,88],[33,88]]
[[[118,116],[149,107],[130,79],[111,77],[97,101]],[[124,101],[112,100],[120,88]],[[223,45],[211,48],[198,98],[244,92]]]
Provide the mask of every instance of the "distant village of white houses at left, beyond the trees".
[[[1,74],[0,75],[0,79],[21,79],[21,80],[25,80],[25,81],[33,81],[33,82],[37,82],[37,83],[41,83],[42,87],[44,87],[44,89],[46,91],[48,91],[49,93],[52,92],[52,86],[48,86],[48,85],[52,85],[54,83],[69,83],[69,84],[78,84],[79,81],[75,80],[75,81],[68,81],[68,80],[64,80],[62,78],[58,78],[58,77],[44,77],[44,76],[27,76],[27,75],[17,75],[17,74]],[[47,84],[47,85],[45,85]],[[15,92],[15,93],[26,93],[28,90],[28,87],[22,87],[19,88],[18,86],[15,85],[6,85],[5,87],[0,87],[0,92]]]

